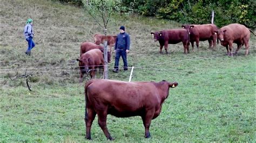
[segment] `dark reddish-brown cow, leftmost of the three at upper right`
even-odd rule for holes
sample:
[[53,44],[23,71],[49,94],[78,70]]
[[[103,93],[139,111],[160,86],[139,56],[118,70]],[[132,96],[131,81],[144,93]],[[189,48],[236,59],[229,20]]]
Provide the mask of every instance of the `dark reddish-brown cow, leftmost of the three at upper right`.
[[168,53],[168,44],[177,44],[179,42],[183,43],[184,54],[190,53],[189,51],[189,34],[184,29],[173,29],[173,30],[163,30],[159,32],[151,32],[154,35],[154,41],[159,41],[160,52],[162,53],[163,46],[165,48],[166,54]]

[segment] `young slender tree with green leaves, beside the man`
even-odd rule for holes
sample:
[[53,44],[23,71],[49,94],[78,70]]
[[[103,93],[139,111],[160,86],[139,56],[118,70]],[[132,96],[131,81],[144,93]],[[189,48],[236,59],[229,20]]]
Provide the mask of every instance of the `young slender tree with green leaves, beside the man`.
[[[119,11],[121,0],[83,0],[84,9],[89,15],[95,19],[100,27],[104,29],[104,34],[107,34],[107,24],[109,24],[111,14],[114,11]],[[108,78],[107,67],[107,41],[104,41],[104,78]]]

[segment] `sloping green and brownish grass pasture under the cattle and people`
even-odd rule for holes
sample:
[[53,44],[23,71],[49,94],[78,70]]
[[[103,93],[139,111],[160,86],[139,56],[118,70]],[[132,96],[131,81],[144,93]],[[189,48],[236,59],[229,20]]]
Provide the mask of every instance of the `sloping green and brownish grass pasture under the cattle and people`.
[[[84,126],[84,80],[79,84],[79,47],[103,33],[83,9],[51,1],[2,0],[0,3],[0,142],[87,142]],[[34,20],[36,47],[24,54],[23,27]],[[200,42],[199,51],[183,54],[181,44],[169,45],[170,54],[159,54],[159,43],[150,32],[179,28],[181,24],[140,16],[114,16],[109,34],[120,25],[131,35],[129,66],[132,81],[177,81],[170,89],[158,118],[151,123],[151,138],[144,138],[140,117],[108,116],[114,142],[255,142],[256,37],[250,54],[226,56]],[[236,48],[236,45],[235,45]],[[109,78],[128,81],[121,70]],[[120,59],[120,66],[123,65]],[[32,74],[30,85],[25,78]],[[97,78],[103,75],[97,74]],[[105,142],[103,131],[92,125],[92,142]]]

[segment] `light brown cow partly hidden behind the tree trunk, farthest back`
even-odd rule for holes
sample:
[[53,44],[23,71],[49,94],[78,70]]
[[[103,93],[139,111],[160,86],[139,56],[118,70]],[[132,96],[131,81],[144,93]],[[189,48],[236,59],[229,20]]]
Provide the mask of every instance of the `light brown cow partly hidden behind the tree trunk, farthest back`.
[[109,52],[112,52],[112,46],[116,44],[117,35],[104,35],[104,34],[95,34],[94,35],[95,44],[99,45],[104,44],[105,39],[107,40],[107,45],[109,45]]

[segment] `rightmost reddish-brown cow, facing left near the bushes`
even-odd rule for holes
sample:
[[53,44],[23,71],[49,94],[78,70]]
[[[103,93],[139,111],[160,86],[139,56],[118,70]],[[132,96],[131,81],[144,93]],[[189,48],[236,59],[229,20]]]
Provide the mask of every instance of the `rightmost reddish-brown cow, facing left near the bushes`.
[[230,25],[221,27],[219,30],[215,32],[217,32],[218,34],[218,39],[220,40],[220,44],[226,47],[227,55],[233,56],[233,53],[232,53],[233,43],[237,44],[237,50],[235,51],[235,54],[237,54],[237,52],[242,47],[242,45],[245,45],[245,48],[246,48],[245,55],[248,55],[248,50],[250,47],[249,45],[249,40],[251,35],[250,31],[252,32],[252,30],[245,27],[244,25],[235,23],[235,24],[230,24]]

